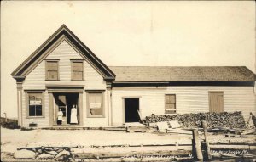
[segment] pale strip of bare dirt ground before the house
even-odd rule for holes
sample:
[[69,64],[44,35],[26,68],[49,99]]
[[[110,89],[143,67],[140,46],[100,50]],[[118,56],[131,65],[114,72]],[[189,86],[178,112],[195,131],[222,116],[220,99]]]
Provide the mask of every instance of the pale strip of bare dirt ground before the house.
[[191,143],[190,135],[102,130],[32,130],[1,128],[1,152],[13,153],[26,146],[107,146]]

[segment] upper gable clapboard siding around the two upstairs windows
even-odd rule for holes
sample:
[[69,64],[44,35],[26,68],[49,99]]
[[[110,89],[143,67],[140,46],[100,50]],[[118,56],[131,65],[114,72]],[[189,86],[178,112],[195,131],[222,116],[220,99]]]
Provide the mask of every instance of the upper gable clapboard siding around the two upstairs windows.
[[24,89],[44,89],[45,84],[85,85],[85,89],[106,89],[106,83],[87,61],[84,61],[84,81],[71,81],[71,60],[83,59],[66,41],[49,53],[46,59],[60,59],[60,81],[45,81],[45,61],[42,61],[32,72],[26,76],[23,83]]

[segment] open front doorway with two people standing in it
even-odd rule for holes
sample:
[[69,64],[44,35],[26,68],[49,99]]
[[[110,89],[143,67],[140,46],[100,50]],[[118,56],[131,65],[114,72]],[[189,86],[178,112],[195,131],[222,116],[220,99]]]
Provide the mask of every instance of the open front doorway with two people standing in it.
[[[57,125],[79,124],[79,93],[54,93],[54,121]],[[61,120],[61,121],[60,121]]]

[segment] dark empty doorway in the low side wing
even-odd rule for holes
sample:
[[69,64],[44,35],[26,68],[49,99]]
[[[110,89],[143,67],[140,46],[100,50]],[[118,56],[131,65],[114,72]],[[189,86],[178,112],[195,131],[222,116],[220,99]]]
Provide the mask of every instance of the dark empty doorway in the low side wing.
[[139,122],[139,98],[125,98],[125,122]]

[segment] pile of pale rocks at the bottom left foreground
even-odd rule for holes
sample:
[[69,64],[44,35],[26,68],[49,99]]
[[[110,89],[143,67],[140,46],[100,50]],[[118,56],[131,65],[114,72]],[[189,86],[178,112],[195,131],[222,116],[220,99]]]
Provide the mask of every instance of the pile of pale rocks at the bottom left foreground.
[[15,151],[15,159],[55,159],[57,161],[69,160],[71,157],[70,148],[19,148]]

